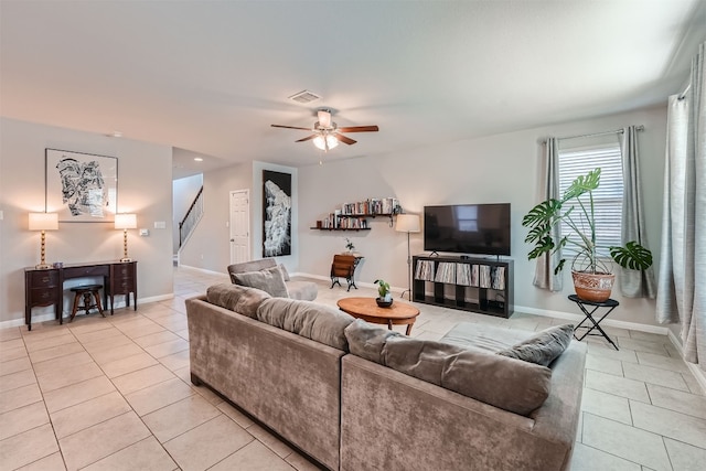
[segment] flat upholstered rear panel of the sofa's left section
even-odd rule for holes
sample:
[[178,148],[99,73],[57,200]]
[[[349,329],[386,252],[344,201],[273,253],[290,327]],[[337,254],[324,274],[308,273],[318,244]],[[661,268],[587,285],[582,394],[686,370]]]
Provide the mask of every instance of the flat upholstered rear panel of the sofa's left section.
[[339,464],[340,358],[345,352],[186,300],[192,378],[329,469]]

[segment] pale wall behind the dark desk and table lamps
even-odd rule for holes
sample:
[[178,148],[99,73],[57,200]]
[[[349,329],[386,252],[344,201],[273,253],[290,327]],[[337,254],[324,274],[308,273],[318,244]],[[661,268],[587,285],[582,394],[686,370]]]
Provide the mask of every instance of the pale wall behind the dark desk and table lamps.
[[[0,322],[24,318],[24,267],[40,257],[40,234],[28,231],[28,213],[44,211],[44,149],[118,158],[118,211],[137,213],[149,237],[129,231],[129,254],[138,260],[139,299],[172,296],[172,150],[130,139],[0,119]],[[154,229],[154,222],[165,229]],[[111,223],[60,223],[46,233],[47,261],[86,263],[122,256],[122,233]],[[65,299],[65,302],[68,300]],[[52,308],[35,308],[39,317]]]

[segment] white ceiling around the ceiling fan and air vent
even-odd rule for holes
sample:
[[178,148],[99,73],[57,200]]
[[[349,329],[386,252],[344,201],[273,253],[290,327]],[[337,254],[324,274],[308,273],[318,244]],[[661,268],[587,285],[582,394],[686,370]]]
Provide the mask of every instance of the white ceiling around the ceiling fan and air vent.
[[[327,160],[383,156],[665,103],[705,4],[0,0],[0,111],[181,148],[175,175],[191,152],[315,164],[307,131],[270,125],[320,107],[381,128]],[[288,100],[302,89],[322,99]]]

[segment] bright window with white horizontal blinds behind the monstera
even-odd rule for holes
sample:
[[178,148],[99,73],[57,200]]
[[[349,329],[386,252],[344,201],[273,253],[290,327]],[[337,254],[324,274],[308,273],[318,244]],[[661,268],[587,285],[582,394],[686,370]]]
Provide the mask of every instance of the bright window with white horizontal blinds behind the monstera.
[[[623,183],[620,146],[610,143],[559,150],[559,195],[564,194],[577,176],[598,167],[601,169],[600,185],[593,191],[596,245],[600,254],[607,255],[608,247],[621,245]],[[580,211],[580,207],[574,211]],[[564,222],[561,234],[571,234]],[[570,244],[567,249],[570,250]]]

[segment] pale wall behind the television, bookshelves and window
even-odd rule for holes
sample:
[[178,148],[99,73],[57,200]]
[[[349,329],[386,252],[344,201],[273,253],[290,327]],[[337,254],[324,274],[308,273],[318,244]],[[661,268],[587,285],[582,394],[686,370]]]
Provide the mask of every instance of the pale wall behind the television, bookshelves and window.
[[[420,213],[425,205],[451,203],[512,204],[512,258],[515,263],[515,306],[535,311],[577,313],[566,298],[573,292],[566,271],[563,292],[550,293],[532,286],[534,263],[526,259],[530,246],[523,215],[539,201],[537,181],[542,142],[547,136],[565,137],[644,125],[639,135],[642,188],[650,248],[659,267],[662,189],[665,149],[666,108],[559,124],[537,129],[450,142],[386,157],[327,161],[323,165],[299,169],[299,271],[328,276],[333,254],[344,249],[350,237],[365,257],[356,278],[372,282],[384,278],[398,288],[407,288],[407,238],[388,227],[385,220],[371,220],[372,231],[311,231],[317,220],[340,204],[367,197],[396,196],[407,213]],[[384,132],[382,130],[381,132]],[[411,235],[411,253],[422,253],[422,235]],[[612,297],[621,306],[611,318],[656,324],[654,302],[624,299],[618,290]]]

